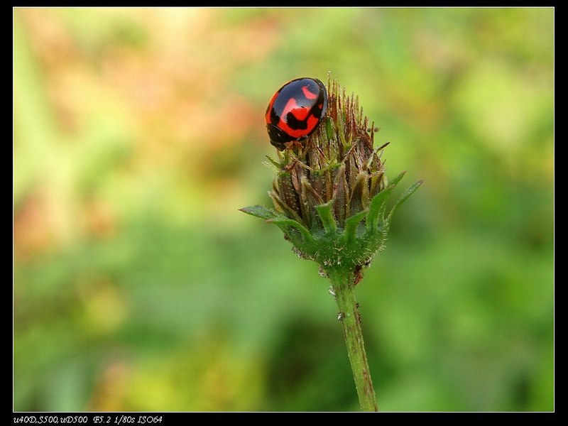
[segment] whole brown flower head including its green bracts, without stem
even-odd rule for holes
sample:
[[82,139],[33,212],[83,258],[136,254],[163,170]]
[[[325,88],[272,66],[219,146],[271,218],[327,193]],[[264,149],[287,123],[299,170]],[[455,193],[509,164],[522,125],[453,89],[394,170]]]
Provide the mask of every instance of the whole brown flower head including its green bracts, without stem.
[[373,146],[377,131],[359,99],[328,81],[320,125],[271,159],[276,174],[268,194],[274,209],[242,211],[280,226],[295,252],[324,271],[345,267],[359,273],[383,249],[395,208],[422,183],[410,187],[386,214],[388,196],[404,173],[388,185],[382,159],[388,143]]

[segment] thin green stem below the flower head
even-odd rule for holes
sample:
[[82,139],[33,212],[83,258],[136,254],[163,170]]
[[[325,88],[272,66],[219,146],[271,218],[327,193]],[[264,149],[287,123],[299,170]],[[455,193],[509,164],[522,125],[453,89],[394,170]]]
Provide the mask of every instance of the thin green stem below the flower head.
[[327,270],[327,277],[332,282],[335,302],[339,308],[339,320],[342,322],[343,337],[359,396],[359,405],[363,411],[378,411],[361,331],[359,305],[355,300],[356,274],[346,268],[330,268]]

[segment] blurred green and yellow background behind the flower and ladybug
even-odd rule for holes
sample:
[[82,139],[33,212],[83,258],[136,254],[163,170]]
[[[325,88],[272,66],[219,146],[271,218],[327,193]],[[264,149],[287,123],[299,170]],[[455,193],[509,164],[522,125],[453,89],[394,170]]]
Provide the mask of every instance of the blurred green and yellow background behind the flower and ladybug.
[[554,9],[14,9],[14,410],[358,410],[268,99],[337,78],[425,183],[357,288],[379,407],[554,409]]

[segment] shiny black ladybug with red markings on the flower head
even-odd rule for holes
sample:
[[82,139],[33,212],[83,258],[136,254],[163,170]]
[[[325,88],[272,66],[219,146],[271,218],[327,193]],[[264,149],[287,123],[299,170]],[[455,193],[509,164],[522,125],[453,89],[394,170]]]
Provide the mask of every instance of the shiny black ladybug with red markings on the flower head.
[[280,87],[266,108],[266,129],[283,151],[310,136],[325,116],[327,90],[317,78],[297,78]]

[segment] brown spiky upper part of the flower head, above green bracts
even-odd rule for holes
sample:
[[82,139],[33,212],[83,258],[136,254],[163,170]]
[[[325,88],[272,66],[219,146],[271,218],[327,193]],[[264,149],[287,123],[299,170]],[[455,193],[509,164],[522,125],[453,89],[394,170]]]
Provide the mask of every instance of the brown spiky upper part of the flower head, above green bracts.
[[373,148],[374,124],[369,126],[358,99],[347,97],[337,82],[328,93],[328,112],[319,129],[301,145],[278,152],[269,192],[278,212],[312,230],[322,227],[318,205],[333,201],[333,216],[341,229],[386,187],[381,163],[386,145]]

